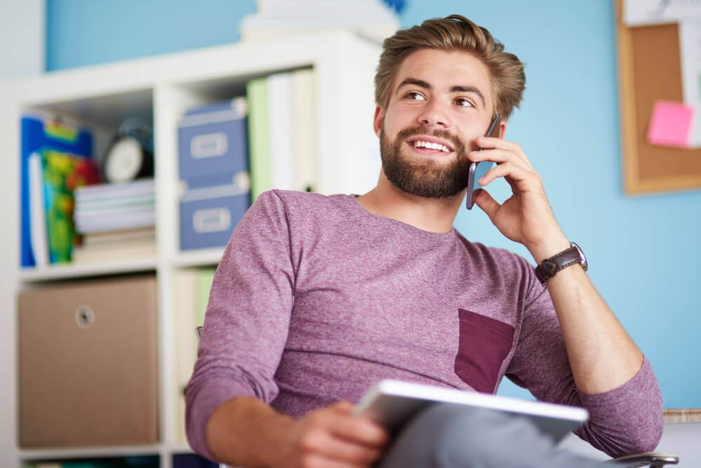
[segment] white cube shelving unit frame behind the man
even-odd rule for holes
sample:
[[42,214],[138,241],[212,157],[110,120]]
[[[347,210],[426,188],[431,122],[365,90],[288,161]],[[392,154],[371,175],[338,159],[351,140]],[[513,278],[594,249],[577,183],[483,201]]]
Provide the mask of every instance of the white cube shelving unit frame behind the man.
[[[182,268],[215,265],[222,248],[181,253],[178,239],[177,123],[189,107],[245,94],[249,79],[313,67],[318,112],[319,192],[363,193],[380,168],[373,133],[373,76],[380,46],[347,31],[288,36],[267,43],[234,44],[0,82],[0,460],[172,455],[189,448],[176,441],[175,342],[169,285]],[[95,154],[128,116],[154,123],[157,255],[99,265],[20,268],[20,117],[26,112],[60,116],[93,129]],[[17,436],[18,368],[16,295],[46,281],[153,271],[158,287],[159,443],[152,446],[20,449]],[[5,462],[3,466],[9,466]]]

